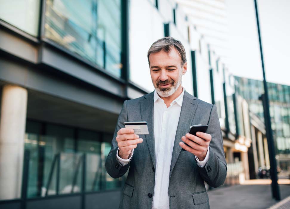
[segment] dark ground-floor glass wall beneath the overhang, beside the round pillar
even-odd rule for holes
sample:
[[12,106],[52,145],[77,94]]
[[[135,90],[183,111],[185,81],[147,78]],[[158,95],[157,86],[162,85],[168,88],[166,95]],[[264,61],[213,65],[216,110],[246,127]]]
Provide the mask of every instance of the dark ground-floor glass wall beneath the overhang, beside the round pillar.
[[105,170],[109,140],[111,134],[27,120],[28,197],[79,193],[83,174],[85,191],[121,188],[124,177],[113,179]]

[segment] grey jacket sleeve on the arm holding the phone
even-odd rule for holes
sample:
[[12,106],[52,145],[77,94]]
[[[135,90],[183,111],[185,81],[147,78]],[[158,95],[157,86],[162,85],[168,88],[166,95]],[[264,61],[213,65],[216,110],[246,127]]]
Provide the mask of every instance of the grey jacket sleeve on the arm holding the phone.
[[206,133],[212,136],[209,144],[209,160],[203,168],[198,167],[199,174],[211,187],[219,187],[226,179],[226,159],[223,150],[223,137],[216,105],[212,106]]

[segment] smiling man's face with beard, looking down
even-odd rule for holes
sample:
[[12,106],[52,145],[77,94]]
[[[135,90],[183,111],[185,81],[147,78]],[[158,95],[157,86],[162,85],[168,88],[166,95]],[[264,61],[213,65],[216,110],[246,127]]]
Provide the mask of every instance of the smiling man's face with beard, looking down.
[[155,90],[161,97],[169,97],[181,85],[182,75],[186,73],[187,63],[181,66],[181,57],[175,48],[149,55],[150,74]]

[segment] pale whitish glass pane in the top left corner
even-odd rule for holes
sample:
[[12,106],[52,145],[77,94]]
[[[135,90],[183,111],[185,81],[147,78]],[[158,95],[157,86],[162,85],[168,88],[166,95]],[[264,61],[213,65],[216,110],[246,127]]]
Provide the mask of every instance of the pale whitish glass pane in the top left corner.
[[0,0],[0,19],[38,36],[40,0]]

